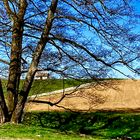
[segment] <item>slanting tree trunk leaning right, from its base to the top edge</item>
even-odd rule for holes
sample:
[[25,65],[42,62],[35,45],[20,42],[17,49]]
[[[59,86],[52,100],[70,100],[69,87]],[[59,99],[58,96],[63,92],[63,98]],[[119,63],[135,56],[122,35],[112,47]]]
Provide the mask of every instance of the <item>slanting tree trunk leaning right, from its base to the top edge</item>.
[[19,93],[17,106],[12,114],[12,118],[11,118],[12,123],[18,123],[21,119],[21,115],[23,113],[23,109],[24,109],[24,106],[28,97],[28,93],[31,89],[31,85],[34,79],[35,72],[37,70],[37,66],[39,64],[41,54],[44,50],[44,47],[46,46],[46,43],[48,42],[48,36],[52,27],[52,22],[54,19],[57,3],[58,3],[58,0],[52,0],[50,9],[48,11],[48,17],[46,19],[46,25],[41,35],[40,41],[36,47],[34,57],[32,59],[32,63],[28,70],[23,88],[21,92]]

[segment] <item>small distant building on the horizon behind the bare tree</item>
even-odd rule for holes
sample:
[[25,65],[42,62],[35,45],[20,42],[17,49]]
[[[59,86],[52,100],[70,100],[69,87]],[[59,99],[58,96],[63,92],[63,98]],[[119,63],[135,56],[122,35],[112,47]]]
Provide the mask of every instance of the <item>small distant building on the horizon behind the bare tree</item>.
[[44,80],[44,79],[49,79],[49,78],[50,78],[50,75],[46,71],[38,71],[35,74],[35,79]]

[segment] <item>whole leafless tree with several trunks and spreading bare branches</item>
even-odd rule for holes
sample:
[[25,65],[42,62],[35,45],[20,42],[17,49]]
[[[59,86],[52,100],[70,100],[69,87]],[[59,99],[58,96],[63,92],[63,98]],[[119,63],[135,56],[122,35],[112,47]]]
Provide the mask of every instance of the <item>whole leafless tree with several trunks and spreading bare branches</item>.
[[[38,67],[95,80],[110,70],[126,75],[118,64],[139,73],[132,65],[139,59],[139,36],[132,28],[131,2],[0,0],[0,5],[0,62],[9,65],[7,96],[0,83],[3,122],[21,121]],[[19,89],[24,68],[27,75]]]

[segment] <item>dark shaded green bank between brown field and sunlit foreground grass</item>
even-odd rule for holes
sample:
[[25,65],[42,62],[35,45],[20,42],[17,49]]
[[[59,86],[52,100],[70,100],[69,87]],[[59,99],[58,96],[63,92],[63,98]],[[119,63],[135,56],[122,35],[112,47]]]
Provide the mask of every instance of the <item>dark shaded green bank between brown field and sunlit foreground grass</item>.
[[103,139],[130,136],[140,139],[140,114],[96,112],[28,112],[23,124]]

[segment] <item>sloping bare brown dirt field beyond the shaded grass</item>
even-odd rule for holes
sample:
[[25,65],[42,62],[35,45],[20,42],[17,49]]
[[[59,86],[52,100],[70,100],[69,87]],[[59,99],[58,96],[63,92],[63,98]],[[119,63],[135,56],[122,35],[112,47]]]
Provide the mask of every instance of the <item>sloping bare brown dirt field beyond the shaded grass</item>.
[[[63,93],[42,96],[35,100],[57,102],[62,95]],[[26,111],[63,111],[67,109],[140,112],[140,80],[112,80],[101,82],[99,85],[92,84],[66,96],[58,106],[30,102],[26,105]]]

